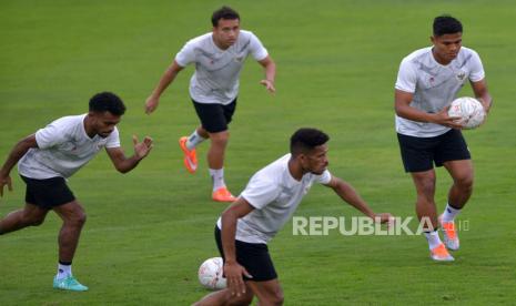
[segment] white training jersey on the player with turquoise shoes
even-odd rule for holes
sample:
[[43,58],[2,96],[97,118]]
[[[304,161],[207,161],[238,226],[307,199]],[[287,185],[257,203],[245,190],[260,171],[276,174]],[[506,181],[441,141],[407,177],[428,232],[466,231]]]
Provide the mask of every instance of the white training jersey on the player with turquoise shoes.
[[38,147],[30,149],[18,163],[18,173],[37,180],[70,177],[102,147],[119,147],[119,131],[108,137],[90,139],[84,130],[87,114],[60,118],[36,132]]

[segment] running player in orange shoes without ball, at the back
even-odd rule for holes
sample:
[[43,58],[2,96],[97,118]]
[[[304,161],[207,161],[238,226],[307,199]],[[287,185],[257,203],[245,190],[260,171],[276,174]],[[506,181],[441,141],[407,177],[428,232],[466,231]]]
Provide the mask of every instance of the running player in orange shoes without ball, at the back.
[[195,147],[206,139],[211,140],[208,165],[213,180],[212,198],[233,202],[224,182],[224,152],[230,137],[227,124],[236,108],[239,78],[247,55],[252,55],[265,71],[261,81],[267,91],[274,93],[276,68],[267,50],[250,31],[240,29],[240,16],[231,8],[222,7],[213,12],[213,30],[186,42],[166,69],[159,84],[145,102],[145,112],[153,112],[163,91],[178,73],[190,63],[195,73],[190,80],[190,96],[201,125],[190,136],[180,139],[184,153],[184,166],[190,173],[198,169]]

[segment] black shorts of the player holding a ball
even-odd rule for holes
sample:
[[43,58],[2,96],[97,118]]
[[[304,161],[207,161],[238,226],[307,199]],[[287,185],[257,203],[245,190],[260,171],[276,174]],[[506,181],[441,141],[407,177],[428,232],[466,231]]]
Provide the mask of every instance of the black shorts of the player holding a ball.
[[435,137],[415,137],[397,134],[405,172],[428,171],[444,162],[471,160],[469,150],[459,130]]

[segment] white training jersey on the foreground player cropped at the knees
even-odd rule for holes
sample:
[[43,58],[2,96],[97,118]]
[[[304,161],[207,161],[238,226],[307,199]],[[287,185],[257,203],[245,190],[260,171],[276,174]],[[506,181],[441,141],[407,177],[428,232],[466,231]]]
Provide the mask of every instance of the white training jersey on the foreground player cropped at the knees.
[[[290,220],[303,196],[314,182],[328,184],[332,175],[324,171],[321,175],[306,173],[301,181],[292,177],[286,154],[251,177],[240,194],[254,210],[236,224],[237,241],[246,243],[267,243]],[[222,221],[217,221],[222,228]]]

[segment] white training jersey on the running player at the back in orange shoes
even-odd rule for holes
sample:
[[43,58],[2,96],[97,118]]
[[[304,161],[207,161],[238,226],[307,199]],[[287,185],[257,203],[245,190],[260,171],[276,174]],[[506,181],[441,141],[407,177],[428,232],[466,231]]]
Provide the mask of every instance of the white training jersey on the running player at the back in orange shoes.
[[175,55],[181,67],[195,63],[190,79],[190,95],[199,103],[229,104],[239,94],[240,71],[249,54],[256,61],[267,57],[267,50],[250,31],[241,30],[235,43],[222,50],[206,33],[186,42]]

